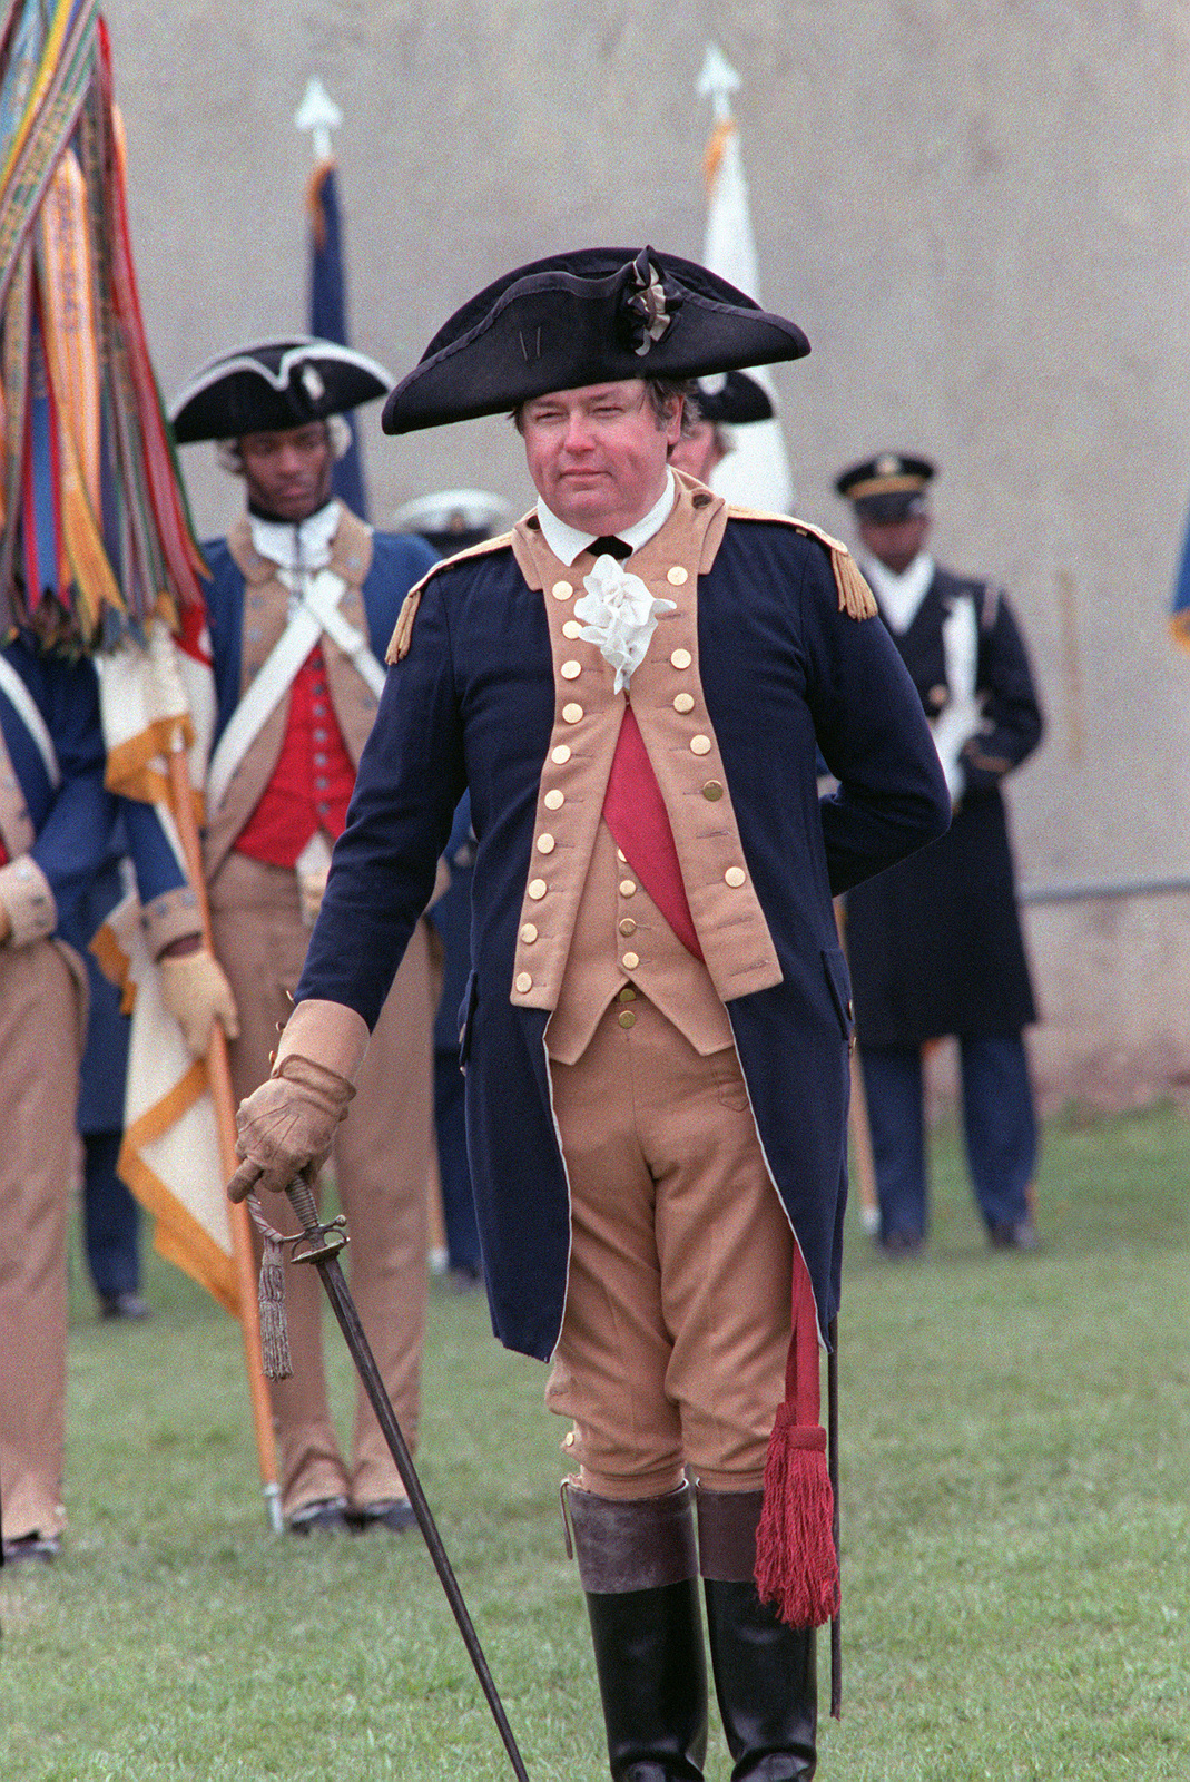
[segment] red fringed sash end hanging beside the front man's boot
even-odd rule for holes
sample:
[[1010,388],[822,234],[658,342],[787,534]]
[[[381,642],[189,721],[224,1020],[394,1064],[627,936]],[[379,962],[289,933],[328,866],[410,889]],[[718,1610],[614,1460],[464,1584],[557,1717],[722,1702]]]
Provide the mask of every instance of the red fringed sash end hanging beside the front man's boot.
[[768,1443],[755,1536],[761,1602],[775,1604],[789,1627],[823,1627],[839,1613],[834,1492],[818,1413],[818,1313],[805,1262],[795,1249],[786,1402],[777,1408]]

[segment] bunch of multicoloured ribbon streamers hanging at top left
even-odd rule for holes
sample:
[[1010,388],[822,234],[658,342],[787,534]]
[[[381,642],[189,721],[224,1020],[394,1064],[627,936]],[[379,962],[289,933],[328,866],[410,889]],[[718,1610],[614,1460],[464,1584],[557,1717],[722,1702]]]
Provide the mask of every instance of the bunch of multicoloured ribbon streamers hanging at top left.
[[0,25],[0,629],[94,652],[201,608],[96,0]]

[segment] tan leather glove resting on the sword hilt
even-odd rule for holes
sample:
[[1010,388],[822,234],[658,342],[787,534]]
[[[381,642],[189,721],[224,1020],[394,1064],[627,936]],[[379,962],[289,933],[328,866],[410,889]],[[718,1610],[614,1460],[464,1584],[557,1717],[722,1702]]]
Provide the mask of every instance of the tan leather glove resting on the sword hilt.
[[253,1189],[283,1194],[303,1169],[317,1171],[353,1098],[355,1085],[338,1071],[292,1051],[281,1059],[239,1105],[235,1151],[244,1162],[228,1181],[228,1199],[242,1201]]

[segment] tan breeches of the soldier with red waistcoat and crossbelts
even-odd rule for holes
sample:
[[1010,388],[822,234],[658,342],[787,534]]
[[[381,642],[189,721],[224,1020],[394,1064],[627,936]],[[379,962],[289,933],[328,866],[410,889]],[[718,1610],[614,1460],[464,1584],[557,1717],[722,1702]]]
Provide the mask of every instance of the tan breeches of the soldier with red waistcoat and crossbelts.
[[[278,1026],[292,1012],[310,941],[296,873],[232,854],[210,887],[216,953],[232,980],[240,1037],[230,1048],[242,1099],[269,1075]],[[331,1157],[347,1215],[351,1296],[410,1449],[417,1445],[426,1335],[426,1173],[433,1133],[433,1009],[424,923],[410,941],[381,1010],[358,1094]],[[265,1215],[296,1231],[269,1196]],[[285,1269],[294,1377],[269,1386],[281,1465],[281,1509],[322,1497],[355,1506],[403,1497],[404,1486],[363,1388],[356,1388],[351,1456],[340,1456],[322,1367],[322,1283],[315,1269]]]

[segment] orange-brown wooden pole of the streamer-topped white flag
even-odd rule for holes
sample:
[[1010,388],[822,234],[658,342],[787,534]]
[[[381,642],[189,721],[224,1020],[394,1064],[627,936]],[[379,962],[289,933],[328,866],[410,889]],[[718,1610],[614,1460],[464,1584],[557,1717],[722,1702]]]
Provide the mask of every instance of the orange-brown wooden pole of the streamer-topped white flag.
[[[210,939],[210,903],[207,898],[207,880],[203,877],[203,854],[198,839],[198,822],[194,818],[194,789],[185,754],[182,731],[175,727],[169,741],[169,789],[173,809],[178,820],[182,852],[187,871],[198,898],[198,912],[203,923],[203,941],[214,953]],[[232,1066],[228,1062],[228,1041],[219,1023],[212,1023],[210,1046],[207,1048],[207,1082],[210,1101],[216,1112],[216,1130],[219,1133],[219,1162],[223,1165],[223,1187],[239,1167],[235,1155],[235,1094],[232,1089]],[[273,1433],[273,1404],[264,1377],[260,1351],[260,1304],[257,1299],[257,1258],[253,1253],[251,1224],[248,1206],[228,1201],[228,1222],[232,1228],[232,1256],[235,1262],[235,1285],[240,1306],[240,1333],[244,1338],[244,1367],[248,1370],[248,1395],[251,1399],[253,1431],[257,1436],[257,1459],[260,1463],[260,1493],[265,1502],[269,1527],[274,1534],[283,1529],[281,1486],[276,1472],[276,1436]]]

